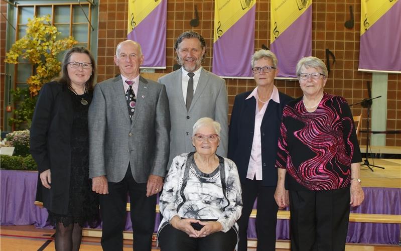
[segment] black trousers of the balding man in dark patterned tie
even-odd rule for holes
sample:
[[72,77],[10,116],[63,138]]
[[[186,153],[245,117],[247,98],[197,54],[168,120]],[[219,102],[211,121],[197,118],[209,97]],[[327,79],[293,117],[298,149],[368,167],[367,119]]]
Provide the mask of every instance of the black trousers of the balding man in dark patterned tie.
[[129,165],[125,177],[120,182],[108,182],[108,192],[99,197],[103,221],[101,238],[103,250],[122,250],[128,192],[131,203],[133,249],[150,251],[155,226],[156,195],[146,197],[146,183],[137,183],[133,179]]

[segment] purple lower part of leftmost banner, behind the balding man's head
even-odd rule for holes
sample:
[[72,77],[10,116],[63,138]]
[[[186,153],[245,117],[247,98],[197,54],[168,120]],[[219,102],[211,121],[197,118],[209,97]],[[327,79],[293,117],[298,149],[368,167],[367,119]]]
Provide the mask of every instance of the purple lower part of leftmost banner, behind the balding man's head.
[[142,67],[166,68],[167,0],[153,10],[127,35],[142,46],[145,61]]

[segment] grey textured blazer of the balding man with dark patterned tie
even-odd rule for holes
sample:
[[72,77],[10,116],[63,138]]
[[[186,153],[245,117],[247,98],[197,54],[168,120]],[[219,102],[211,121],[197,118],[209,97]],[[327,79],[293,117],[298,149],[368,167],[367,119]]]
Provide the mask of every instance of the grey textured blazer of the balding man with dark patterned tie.
[[170,113],[166,87],[140,77],[137,105],[129,120],[121,76],[95,85],[88,112],[89,177],[124,178],[128,163],[138,183],[164,177],[169,155]]

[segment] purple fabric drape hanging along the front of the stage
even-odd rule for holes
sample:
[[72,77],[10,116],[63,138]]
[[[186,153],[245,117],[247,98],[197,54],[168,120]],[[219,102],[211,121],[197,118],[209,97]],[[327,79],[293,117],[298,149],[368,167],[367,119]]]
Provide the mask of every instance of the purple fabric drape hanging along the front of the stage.
[[[0,170],[1,184],[1,225],[31,225],[51,228],[46,223],[48,213],[45,208],[34,205],[37,172]],[[351,208],[351,213],[377,213],[401,215],[401,189],[364,187],[365,201],[359,207]],[[254,207],[256,208],[256,201]],[[155,232],[160,223],[156,215]],[[100,226],[98,226],[99,228]],[[398,244],[401,224],[350,222],[347,242]],[[127,212],[125,230],[132,230]],[[278,220],[278,239],[290,239],[289,220]],[[255,219],[249,219],[248,238],[256,238]]]

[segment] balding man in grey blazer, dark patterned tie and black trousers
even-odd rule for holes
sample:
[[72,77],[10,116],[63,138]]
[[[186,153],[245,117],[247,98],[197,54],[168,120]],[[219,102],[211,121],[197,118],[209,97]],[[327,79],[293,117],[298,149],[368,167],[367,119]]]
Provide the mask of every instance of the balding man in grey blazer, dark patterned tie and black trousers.
[[99,193],[103,250],[122,250],[127,192],[133,249],[151,250],[156,194],[169,154],[170,113],[166,88],[140,76],[141,46],[117,46],[120,75],[98,83],[89,107],[89,177]]

